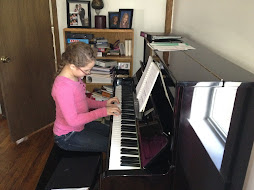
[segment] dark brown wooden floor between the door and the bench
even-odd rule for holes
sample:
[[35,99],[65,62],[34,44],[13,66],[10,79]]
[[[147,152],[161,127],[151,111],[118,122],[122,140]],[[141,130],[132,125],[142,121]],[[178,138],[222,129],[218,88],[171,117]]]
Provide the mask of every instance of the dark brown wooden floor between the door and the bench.
[[54,144],[52,126],[16,145],[0,119],[0,189],[34,190]]

